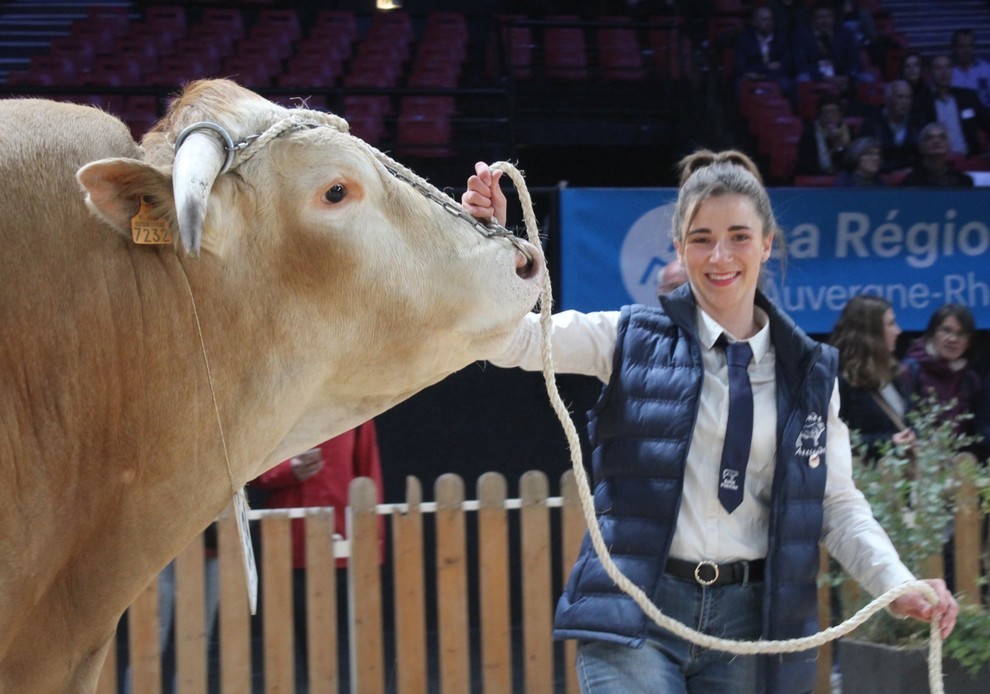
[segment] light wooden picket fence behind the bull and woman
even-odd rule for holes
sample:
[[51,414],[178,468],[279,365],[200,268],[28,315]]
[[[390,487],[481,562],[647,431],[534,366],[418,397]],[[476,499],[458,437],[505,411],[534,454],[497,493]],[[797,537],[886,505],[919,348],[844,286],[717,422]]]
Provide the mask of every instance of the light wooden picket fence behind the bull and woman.
[[[507,488],[502,475],[487,473],[478,479],[477,500],[465,500],[462,479],[447,474],[436,481],[436,501],[427,503],[420,483],[409,478],[404,504],[376,506],[371,480],[355,480],[349,542],[334,539],[330,509],[253,511],[260,525],[263,625],[254,638],[237,528],[225,514],[218,524],[219,663],[212,664],[211,684],[202,538],[175,561],[177,691],[294,691],[290,527],[291,518],[304,517],[309,692],[336,694],[347,686],[336,656],[338,645],[346,644],[350,691],[361,694],[576,693],[574,644],[551,638],[556,597],[585,530],[573,474],[561,478],[559,497],[549,495],[541,472],[520,478],[519,498],[508,498]],[[961,506],[956,576],[959,590],[978,601],[984,518],[975,491],[963,491]],[[379,514],[390,521],[384,563]],[[337,628],[335,554],[349,557],[345,634]],[[383,587],[390,588],[387,597]],[[822,623],[829,624],[827,588],[820,591],[819,605]],[[134,602],[127,620],[129,690],[161,691],[157,581]],[[830,663],[829,645],[819,657],[816,692],[821,694],[830,691]],[[111,649],[100,694],[124,690],[119,665]]]

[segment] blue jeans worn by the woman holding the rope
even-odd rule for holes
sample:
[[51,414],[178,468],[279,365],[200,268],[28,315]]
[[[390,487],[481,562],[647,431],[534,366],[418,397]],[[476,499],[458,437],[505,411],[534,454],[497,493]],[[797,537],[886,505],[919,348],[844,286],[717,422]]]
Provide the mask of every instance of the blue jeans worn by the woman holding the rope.
[[[704,634],[736,641],[760,636],[762,583],[705,588],[663,576],[654,602]],[[695,646],[650,621],[642,648],[578,644],[578,681],[585,694],[754,694],[756,658]]]

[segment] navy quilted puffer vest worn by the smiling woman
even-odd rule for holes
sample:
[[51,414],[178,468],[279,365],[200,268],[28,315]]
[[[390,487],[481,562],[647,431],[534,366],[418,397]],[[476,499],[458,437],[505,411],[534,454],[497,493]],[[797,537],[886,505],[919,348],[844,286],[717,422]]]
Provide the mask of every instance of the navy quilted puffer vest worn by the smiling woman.
[[[694,298],[682,287],[661,308],[626,306],[612,377],[589,412],[595,509],[616,565],[655,595],[681,503],[699,406],[702,363]],[[818,541],[825,424],[838,357],[762,294],[777,363],[777,460],[771,494],[763,638],[818,630]],[[714,493],[715,490],[712,490]],[[587,535],[557,605],[556,638],[641,647],[647,617],[605,573]],[[814,651],[760,659],[759,691],[811,691]]]

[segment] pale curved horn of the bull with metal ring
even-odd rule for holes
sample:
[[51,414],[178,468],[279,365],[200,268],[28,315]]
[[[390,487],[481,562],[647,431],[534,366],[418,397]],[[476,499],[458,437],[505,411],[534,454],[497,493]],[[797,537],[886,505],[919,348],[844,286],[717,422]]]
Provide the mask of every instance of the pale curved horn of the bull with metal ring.
[[[221,136],[223,142],[217,139],[216,134]],[[193,257],[199,255],[206,203],[213,182],[221,169],[230,166],[232,154],[230,135],[214,123],[195,123],[176,139],[172,194],[179,221],[179,238],[186,253]]]

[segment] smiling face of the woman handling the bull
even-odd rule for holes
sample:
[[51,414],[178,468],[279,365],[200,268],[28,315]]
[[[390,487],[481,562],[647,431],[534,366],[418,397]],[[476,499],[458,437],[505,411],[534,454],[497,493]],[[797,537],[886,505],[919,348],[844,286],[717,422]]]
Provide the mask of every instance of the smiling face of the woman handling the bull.
[[760,269],[772,243],[753,202],[727,194],[701,203],[674,244],[698,305],[737,337],[749,329],[740,321],[752,321]]

